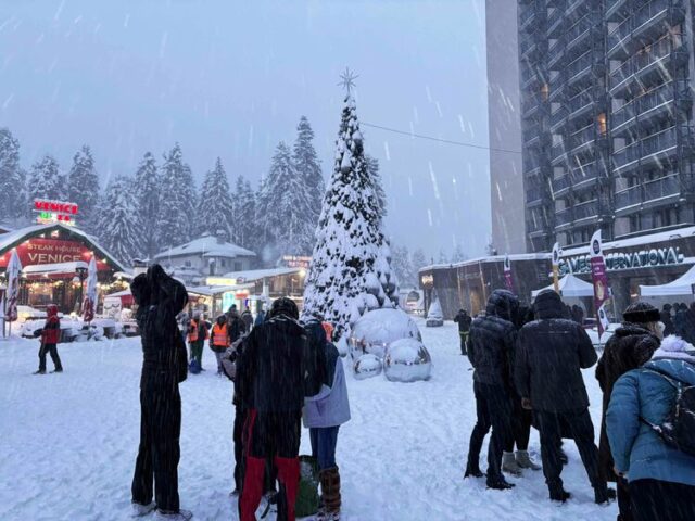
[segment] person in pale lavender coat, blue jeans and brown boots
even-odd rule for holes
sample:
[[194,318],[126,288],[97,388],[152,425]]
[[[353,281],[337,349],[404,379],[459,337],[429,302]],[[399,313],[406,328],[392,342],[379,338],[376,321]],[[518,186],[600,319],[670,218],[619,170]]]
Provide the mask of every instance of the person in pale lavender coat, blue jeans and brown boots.
[[350,421],[350,402],[343,363],[338,348],[328,340],[319,318],[304,325],[309,342],[326,352],[325,381],[320,392],[304,401],[304,427],[308,428],[312,456],[318,461],[321,505],[317,521],[340,518],[340,473],[336,463],[336,445],[340,425]]

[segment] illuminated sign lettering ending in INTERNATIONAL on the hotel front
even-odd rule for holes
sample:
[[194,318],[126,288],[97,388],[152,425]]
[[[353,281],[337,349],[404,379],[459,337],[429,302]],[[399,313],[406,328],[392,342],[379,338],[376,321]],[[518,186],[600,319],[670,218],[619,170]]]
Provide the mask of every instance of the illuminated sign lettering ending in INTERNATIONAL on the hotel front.
[[[656,268],[682,264],[684,260],[684,256],[678,246],[654,247],[629,253],[606,253],[605,257],[608,271]],[[560,274],[567,275],[569,272],[591,274],[590,255],[578,255],[560,259]]]

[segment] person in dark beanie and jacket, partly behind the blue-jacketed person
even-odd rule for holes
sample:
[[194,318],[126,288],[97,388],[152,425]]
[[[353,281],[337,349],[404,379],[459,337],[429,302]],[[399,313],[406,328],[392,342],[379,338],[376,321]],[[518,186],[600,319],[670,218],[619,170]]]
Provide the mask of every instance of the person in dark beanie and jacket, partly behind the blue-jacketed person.
[[659,347],[662,335],[660,315],[656,307],[644,302],[630,305],[622,315],[622,326],[606,342],[604,354],[596,367],[596,380],[603,391],[598,465],[604,479],[617,481],[620,521],[631,521],[634,518],[630,512],[628,482],[617,478],[612,471],[614,461],[606,435],[606,410],[610,402],[610,393],[618,379],[648,361]]

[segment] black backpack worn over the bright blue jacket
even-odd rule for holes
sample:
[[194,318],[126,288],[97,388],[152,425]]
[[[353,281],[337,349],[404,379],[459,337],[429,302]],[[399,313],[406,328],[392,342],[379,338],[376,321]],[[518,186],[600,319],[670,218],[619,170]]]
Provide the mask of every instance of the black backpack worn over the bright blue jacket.
[[675,401],[661,424],[656,425],[642,417],[640,419],[649,425],[667,445],[695,456],[695,385],[678,380],[658,369],[645,369],[659,374],[675,389]]

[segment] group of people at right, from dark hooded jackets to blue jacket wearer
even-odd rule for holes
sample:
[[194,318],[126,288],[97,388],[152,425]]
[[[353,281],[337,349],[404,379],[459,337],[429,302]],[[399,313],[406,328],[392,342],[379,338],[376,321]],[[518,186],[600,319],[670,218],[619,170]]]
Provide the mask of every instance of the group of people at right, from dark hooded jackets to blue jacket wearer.
[[[525,309],[511,292],[496,290],[469,328],[459,312],[477,410],[465,476],[485,475],[479,456],[491,429],[489,488],[514,487],[504,473],[540,470],[527,452],[535,427],[552,500],[571,497],[561,480],[563,440],[571,439],[595,503],[617,497],[620,521],[695,519],[695,347],[681,326],[690,310],[678,309],[669,331],[670,306],[659,312],[646,303],[630,305],[601,359],[577,310],[568,313],[554,291],[541,292]],[[665,333],[685,338],[665,339]],[[582,376],[596,363],[603,391],[599,447]],[[617,482],[617,492],[608,482]]]

